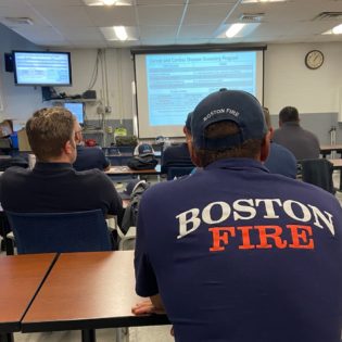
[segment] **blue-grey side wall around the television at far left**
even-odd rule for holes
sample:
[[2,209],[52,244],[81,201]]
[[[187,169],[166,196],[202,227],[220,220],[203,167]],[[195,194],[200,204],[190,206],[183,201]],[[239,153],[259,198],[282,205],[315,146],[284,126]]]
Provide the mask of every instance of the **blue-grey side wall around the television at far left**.
[[4,53],[12,50],[40,50],[0,24],[0,119],[13,118],[14,128],[23,126],[27,117],[42,105],[40,87],[16,87],[14,74],[4,71]]

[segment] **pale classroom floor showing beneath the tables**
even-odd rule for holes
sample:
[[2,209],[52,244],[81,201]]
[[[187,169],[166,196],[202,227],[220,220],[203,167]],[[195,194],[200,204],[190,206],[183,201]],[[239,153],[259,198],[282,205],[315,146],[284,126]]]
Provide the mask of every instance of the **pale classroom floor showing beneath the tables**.
[[[149,179],[150,180],[150,179]],[[152,181],[153,182],[153,181]],[[340,186],[340,174],[334,172],[333,183]],[[342,205],[342,192],[337,191]],[[3,252],[1,253],[3,254]],[[129,328],[127,342],[174,342],[169,333],[170,326]],[[125,341],[125,342],[126,342]],[[80,331],[54,331],[36,333],[14,333],[14,342],[80,342]],[[97,342],[117,342],[114,329],[98,329]]]

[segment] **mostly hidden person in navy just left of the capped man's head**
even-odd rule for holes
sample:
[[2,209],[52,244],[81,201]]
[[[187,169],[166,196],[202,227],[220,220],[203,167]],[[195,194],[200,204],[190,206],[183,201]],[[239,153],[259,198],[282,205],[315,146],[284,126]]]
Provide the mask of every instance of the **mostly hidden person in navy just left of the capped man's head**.
[[[183,132],[186,136],[188,132],[191,132],[191,128],[190,128],[191,115],[190,114],[188,115],[186,125],[183,127]],[[190,157],[187,142],[182,142],[177,145],[167,147],[166,150],[163,151],[162,168],[161,168],[162,174],[167,174],[167,169],[169,166],[193,166],[194,167]]]

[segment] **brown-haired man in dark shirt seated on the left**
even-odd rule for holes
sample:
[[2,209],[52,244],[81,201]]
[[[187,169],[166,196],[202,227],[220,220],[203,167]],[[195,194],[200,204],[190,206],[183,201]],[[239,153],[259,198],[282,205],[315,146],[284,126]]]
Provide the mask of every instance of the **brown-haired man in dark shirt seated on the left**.
[[79,212],[101,208],[104,216],[124,210],[111,179],[99,169],[77,172],[77,122],[71,112],[55,106],[34,113],[26,132],[37,157],[33,169],[10,167],[0,177],[3,210],[24,213]]

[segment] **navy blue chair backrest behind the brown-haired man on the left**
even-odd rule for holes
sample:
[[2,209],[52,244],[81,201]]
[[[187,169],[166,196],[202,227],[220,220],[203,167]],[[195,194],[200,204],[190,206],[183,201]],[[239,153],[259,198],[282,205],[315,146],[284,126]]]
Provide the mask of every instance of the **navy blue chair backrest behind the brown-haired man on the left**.
[[71,213],[5,211],[18,254],[112,250],[101,210]]

